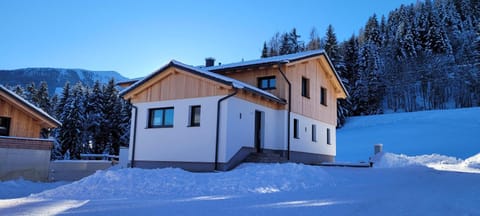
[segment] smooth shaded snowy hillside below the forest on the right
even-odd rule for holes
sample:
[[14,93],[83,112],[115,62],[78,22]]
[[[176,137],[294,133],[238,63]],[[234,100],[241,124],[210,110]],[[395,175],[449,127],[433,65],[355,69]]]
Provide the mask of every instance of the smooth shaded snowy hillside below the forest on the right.
[[352,117],[337,130],[337,161],[367,161],[373,146],[466,159],[480,152],[480,108]]

